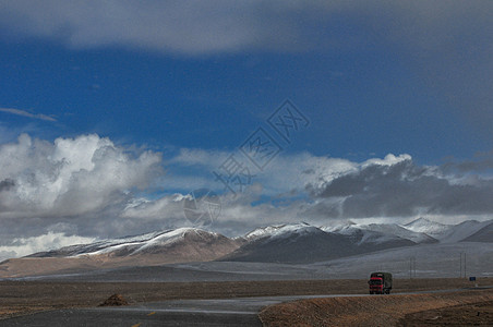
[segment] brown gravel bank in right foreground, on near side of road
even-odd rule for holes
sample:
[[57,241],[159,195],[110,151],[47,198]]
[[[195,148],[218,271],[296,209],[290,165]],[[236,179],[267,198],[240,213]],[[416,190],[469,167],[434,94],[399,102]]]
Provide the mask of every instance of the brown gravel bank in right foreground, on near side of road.
[[[493,326],[486,313],[492,301],[493,289],[310,299],[267,306],[260,317],[265,326],[425,326],[431,315],[444,319],[435,326],[446,325],[445,319],[455,324],[452,326],[472,326],[476,318],[470,311],[477,305],[484,307],[481,320],[489,319],[486,326]],[[443,314],[437,314],[442,310]],[[457,317],[460,319],[454,320]]]

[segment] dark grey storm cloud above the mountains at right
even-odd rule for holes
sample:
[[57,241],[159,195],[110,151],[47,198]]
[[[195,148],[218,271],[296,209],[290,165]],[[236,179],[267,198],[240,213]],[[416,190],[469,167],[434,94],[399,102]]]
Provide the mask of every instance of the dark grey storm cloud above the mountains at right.
[[371,165],[308,189],[318,198],[341,198],[338,216],[347,218],[493,213],[493,181],[452,182],[450,177],[411,160]]

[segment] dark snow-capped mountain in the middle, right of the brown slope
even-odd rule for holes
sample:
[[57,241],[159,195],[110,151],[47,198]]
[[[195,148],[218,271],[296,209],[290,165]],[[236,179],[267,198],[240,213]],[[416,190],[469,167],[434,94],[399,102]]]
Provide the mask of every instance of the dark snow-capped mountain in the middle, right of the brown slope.
[[358,225],[316,228],[304,222],[256,229],[244,239],[245,244],[221,261],[305,264],[417,245],[404,238],[361,229]]

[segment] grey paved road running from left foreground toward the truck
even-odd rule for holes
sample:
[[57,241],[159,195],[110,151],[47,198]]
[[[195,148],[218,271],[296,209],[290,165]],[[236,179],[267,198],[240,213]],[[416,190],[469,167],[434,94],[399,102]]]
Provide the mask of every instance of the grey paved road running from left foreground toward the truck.
[[[453,291],[460,290],[441,290],[431,291],[431,293]],[[430,291],[414,293],[430,293]],[[335,296],[377,295],[332,294],[164,301],[124,307],[58,310],[0,320],[0,326],[262,326],[257,314],[266,305],[299,299]]]

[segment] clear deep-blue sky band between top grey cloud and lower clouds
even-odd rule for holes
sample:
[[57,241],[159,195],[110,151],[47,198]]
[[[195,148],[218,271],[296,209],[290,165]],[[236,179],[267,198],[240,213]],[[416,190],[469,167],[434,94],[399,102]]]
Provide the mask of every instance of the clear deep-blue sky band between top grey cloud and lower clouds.
[[[9,41],[2,107],[53,117],[31,133],[48,140],[97,133],[158,149],[233,149],[289,98],[311,120],[292,152],[354,159],[411,153],[440,164],[491,148],[491,135],[433,93],[406,53],[388,50],[180,58]],[[27,120],[2,113],[2,122],[23,129]]]

